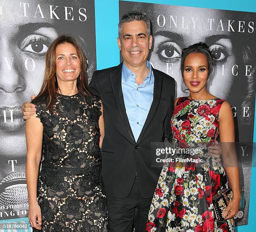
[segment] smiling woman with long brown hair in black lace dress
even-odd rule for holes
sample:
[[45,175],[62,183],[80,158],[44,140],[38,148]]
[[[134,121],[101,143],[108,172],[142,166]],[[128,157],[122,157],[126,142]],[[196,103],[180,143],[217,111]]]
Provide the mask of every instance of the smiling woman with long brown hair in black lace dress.
[[56,38],[32,101],[36,114],[26,121],[28,218],[34,231],[107,232],[102,104],[88,91],[86,74],[79,44],[69,36]]

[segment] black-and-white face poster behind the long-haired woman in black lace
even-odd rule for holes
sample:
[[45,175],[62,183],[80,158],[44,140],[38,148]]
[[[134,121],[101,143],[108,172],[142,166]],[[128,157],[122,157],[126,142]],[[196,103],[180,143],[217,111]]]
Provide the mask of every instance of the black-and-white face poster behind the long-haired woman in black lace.
[[0,1],[0,31],[0,219],[8,219],[24,217],[8,207],[27,202],[21,104],[39,92],[46,51],[61,34],[74,36],[96,69],[94,0]]

